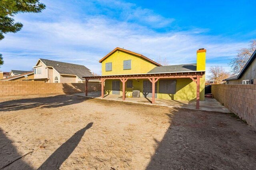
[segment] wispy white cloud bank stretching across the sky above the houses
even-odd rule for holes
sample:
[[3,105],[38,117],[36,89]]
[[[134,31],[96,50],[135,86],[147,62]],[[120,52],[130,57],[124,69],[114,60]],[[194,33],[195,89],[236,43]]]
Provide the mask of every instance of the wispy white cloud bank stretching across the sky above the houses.
[[[104,3],[110,4],[106,1]],[[103,14],[83,14],[79,18],[72,9],[70,14],[66,11],[49,21],[47,18],[56,14],[52,6],[46,14],[42,13],[40,17],[46,18],[41,20],[38,16],[37,19],[33,18],[34,15],[31,19],[27,14],[18,17],[24,24],[22,31],[8,34],[0,42],[1,53],[5,57],[1,69],[30,69],[38,58],[48,58],[83,64],[100,73],[98,60],[117,46],[142,53],[151,59],[166,57],[170,64],[195,63],[198,48],[206,48],[207,59],[210,60],[232,57],[236,55],[237,49],[246,46],[243,42],[233,42],[225,37],[202,35],[200,33],[207,29],[201,28],[158,33],[155,27],[146,26],[144,22],[150,25],[161,23],[158,26],[162,27],[171,24],[173,19],[164,18],[134,4],[116,3],[123,13],[131,9],[126,20],[120,21]],[[58,10],[65,11],[62,8],[58,6]],[[144,21],[138,21],[140,15]]]

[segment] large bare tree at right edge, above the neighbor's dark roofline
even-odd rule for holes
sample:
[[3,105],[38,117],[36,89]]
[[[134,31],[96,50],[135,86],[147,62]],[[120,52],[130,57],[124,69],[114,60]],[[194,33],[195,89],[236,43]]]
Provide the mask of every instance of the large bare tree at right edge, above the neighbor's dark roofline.
[[250,45],[248,48],[241,48],[238,49],[238,54],[235,58],[231,59],[230,63],[228,63],[231,66],[232,73],[238,74],[243,69],[244,65],[248,61],[248,59],[251,57],[252,53],[256,49],[256,40],[250,41]]

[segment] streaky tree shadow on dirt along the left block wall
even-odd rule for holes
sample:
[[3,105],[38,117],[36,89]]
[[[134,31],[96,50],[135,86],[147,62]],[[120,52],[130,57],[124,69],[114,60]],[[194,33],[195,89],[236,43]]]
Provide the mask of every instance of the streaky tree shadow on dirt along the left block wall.
[[18,111],[24,109],[32,109],[35,107],[40,108],[54,108],[66,105],[73,105],[82,103],[83,101],[93,99],[90,97],[70,96],[70,95],[57,95],[50,97],[36,97],[27,99],[15,99],[4,101],[0,103],[0,111]]

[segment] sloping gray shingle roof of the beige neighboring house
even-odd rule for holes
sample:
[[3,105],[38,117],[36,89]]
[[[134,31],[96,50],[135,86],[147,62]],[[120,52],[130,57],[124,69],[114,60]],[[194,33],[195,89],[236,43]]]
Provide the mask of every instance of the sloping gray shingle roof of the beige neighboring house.
[[60,74],[70,74],[70,75],[76,75],[80,79],[84,80],[82,76],[93,76],[92,72],[85,67],[84,65],[78,65],[78,64],[72,64],[72,63],[64,63],[60,61],[53,61],[49,59],[42,59],[40,60],[46,65],[53,67],[58,71]]

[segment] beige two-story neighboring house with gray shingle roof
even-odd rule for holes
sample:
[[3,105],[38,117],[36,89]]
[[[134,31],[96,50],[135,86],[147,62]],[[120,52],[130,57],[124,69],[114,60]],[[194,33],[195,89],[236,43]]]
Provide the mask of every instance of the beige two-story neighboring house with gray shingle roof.
[[47,83],[82,83],[85,81],[82,75],[92,76],[92,72],[84,65],[49,59],[38,59],[34,66],[34,80]]

